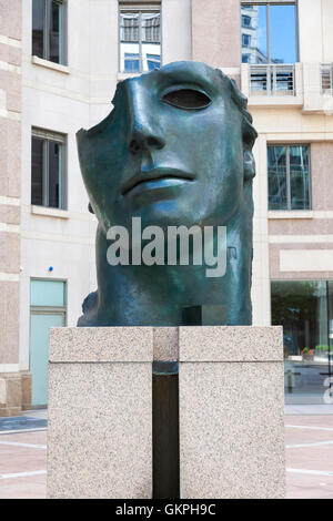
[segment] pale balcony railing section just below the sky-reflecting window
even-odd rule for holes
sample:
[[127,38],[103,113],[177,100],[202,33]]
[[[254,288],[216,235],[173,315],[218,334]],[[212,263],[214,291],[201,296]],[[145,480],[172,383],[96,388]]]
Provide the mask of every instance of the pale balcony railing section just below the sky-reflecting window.
[[249,68],[250,95],[295,95],[295,68],[264,63]]

